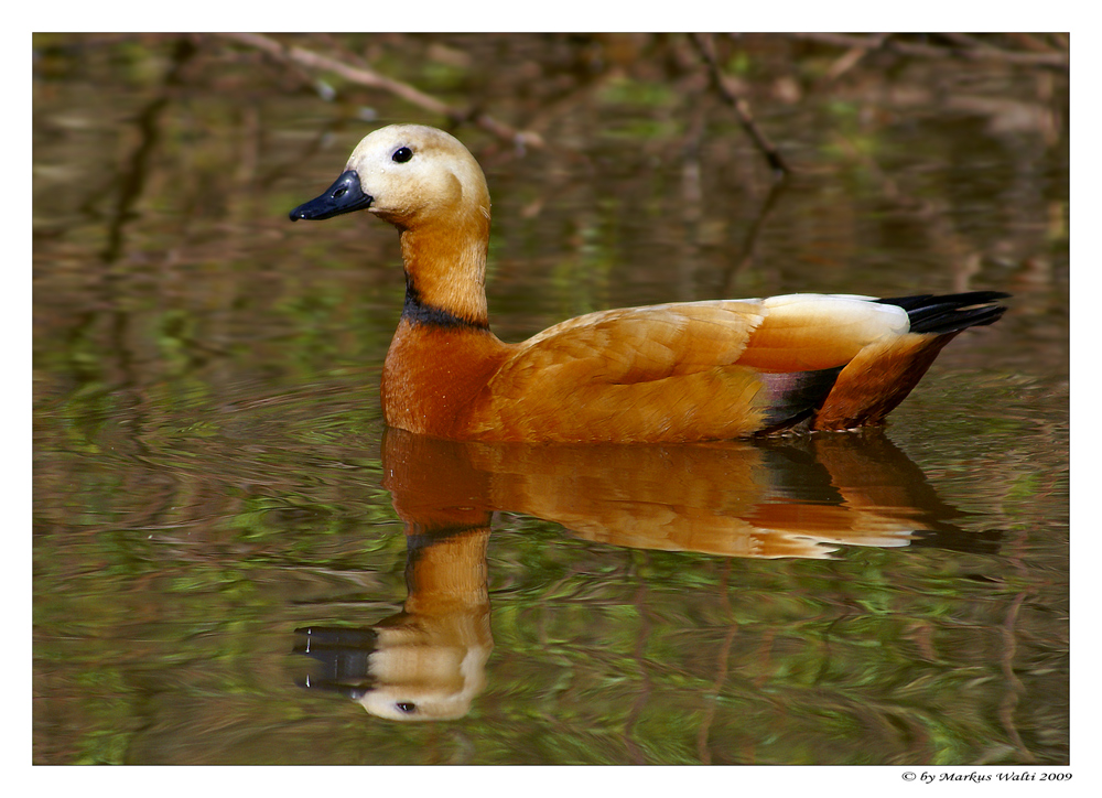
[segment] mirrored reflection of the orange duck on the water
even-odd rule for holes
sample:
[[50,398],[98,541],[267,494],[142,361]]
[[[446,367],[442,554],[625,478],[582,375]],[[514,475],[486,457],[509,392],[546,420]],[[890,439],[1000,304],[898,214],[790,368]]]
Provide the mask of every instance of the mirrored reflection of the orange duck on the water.
[[401,613],[365,629],[309,627],[309,687],[392,720],[461,718],[494,646],[486,547],[496,510],[586,540],[724,557],[824,558],[840,546],[985,551],[878,430],[694,445],[531,445],[383,439],[383,485],[406,525]]

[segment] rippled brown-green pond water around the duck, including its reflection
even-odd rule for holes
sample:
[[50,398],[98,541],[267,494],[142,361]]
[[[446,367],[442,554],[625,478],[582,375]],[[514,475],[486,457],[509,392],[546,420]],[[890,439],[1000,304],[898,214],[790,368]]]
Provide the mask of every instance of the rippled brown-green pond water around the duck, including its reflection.
[[397,237],[287,222],[365,107],[441,120],[186,41],[35,51],[36,763],[1067,764],[1066,78],[765,91],[801,166],[770,194],[657,50],[583,80],[564,39],[349,40],[543,119],[523,153],[457,131],[507,339],[671,300],[1015,294],[883,434],[532,450],[385,431]]

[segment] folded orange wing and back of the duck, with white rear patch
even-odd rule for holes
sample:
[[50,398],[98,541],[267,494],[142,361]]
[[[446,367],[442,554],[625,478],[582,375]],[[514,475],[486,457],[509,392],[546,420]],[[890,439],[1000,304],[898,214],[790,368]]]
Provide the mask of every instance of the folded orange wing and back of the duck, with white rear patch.
[[489,379],[467,435],[699,441],[798,423],[907,312],[796,294],[653,305],[572,319],[520,344]]

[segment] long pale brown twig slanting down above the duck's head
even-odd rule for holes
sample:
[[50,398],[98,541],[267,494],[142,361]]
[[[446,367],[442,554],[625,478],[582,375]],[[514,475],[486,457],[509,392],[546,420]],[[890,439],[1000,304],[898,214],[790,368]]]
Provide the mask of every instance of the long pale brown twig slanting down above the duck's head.
[[380,75],[367,67],[352,66],[336,58],[306,50],[305,47],[284,45],[260,33],[220,33],[216,35],[260,50],[281,63],[296,64],[309,69],[324,69],[339,75],[349,83],[387,91],[419,108],[446,117],[452,122],[471,122],[510,144],[537,149],[544,145],[543,139],[539,133],[530,130],[517,130],[487,114],[477,114],[455,108],[432,95],[421,91],[414,86],[410,86],[408,83]]

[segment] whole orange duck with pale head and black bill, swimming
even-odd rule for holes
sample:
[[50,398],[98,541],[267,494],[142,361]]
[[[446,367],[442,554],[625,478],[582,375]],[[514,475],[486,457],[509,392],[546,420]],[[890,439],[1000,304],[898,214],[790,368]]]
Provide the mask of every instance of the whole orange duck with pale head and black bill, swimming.
[[406,305],[386,421],[452,440],[689,442],[883,422],[941,348],[1005,311],[998,292],[789,294],[601,311],[519,344],[489,330],[489,194],[434,128],[367,136],[292,219],[366,209],[400,233]]

